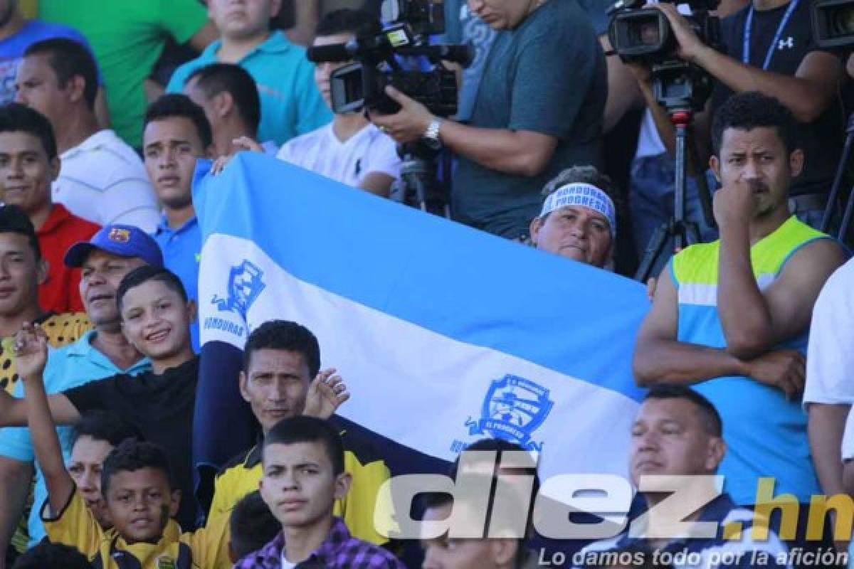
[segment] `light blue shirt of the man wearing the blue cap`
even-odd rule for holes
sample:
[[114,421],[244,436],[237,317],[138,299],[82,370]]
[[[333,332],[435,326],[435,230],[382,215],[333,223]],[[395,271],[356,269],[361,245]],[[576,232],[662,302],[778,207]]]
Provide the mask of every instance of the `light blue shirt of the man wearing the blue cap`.
[[[115,374],[137,375],[151,368],[148,358],[143,358],[128,369],[119,369],[101,351],[91,345],[95,331],[90,330],[73,344],[57,350],[50,350],[48,364],[44,369],[44,389],[48,394],[64,392],[73,387],[82,386],[91,380],[101,380]],[[15,397],[24,396],[23,381],[15,386]],[[71,454],[71,427],[57,427],[62,453],[65,459]],[[30,430],[23,427],[0,429],[0,456],[20,462],[33,462]],[[44,526],[39,517],[39,509],[48,497],[44,486],[44,475],[36,465],[36,488],[32,502],[32,511],[27,522],[30,534],[30,547],[44,538]]]

